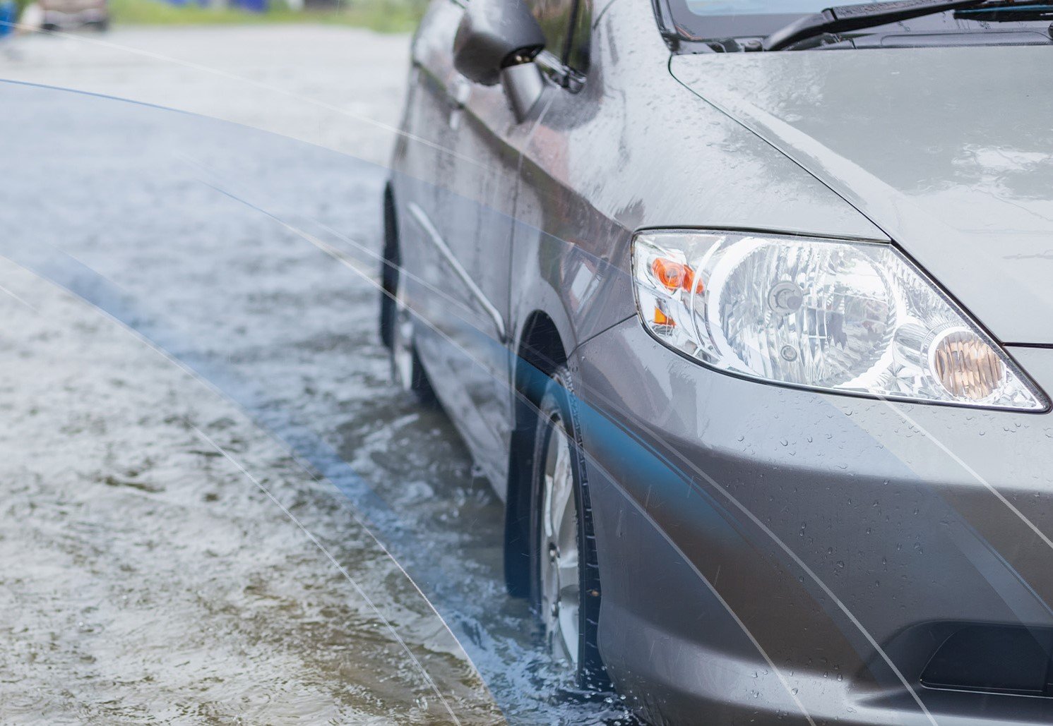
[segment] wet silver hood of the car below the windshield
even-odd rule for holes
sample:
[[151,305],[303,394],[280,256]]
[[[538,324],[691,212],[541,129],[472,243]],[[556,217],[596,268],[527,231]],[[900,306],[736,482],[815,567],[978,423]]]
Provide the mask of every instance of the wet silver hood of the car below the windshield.
[[681,55],[671,70],[866,215],[997,339],[1053,343],[1051,61],[1042,46],[887,48]]

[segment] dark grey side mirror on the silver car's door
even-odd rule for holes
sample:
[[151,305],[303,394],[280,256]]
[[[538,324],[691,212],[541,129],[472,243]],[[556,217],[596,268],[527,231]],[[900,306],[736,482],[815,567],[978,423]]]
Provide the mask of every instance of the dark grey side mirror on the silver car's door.
[[544,34],[524,0],[472,0],[454,37],[454,67],[482,85],[500,81],[522,121],[544,90],[532,62],[543,48]]

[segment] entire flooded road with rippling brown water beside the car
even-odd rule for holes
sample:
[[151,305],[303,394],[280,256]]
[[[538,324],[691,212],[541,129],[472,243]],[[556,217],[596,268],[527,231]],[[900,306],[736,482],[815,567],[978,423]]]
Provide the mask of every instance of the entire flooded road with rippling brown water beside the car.
[[0,720],[628,723],[567,687],[500,502],[390,383],[406,38],[217,33],[0,67],[226,120],[0,83]]

